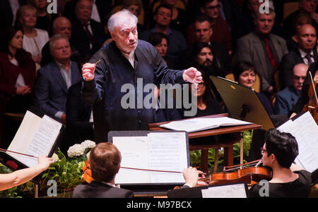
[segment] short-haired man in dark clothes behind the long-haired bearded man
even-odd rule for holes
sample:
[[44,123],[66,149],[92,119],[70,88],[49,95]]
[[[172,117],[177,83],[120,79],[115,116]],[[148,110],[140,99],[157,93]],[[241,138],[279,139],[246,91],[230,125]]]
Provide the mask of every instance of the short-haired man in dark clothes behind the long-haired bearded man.
[[[195,42],[206,42],[211,45],[214,51],[214,60],[216,61],[216,66],[225,71],[225,74],[232,73],[232,61],[226,46],[218,42],[211,42],[211,36],[213,35],[213,30],[205,16],[199,16],[194,22],[194,32],[195,32]],[[191,61],[191,56],[193,52],[193,44],[187,47],[179,56],[179,68],[184,68],[189,65]]]

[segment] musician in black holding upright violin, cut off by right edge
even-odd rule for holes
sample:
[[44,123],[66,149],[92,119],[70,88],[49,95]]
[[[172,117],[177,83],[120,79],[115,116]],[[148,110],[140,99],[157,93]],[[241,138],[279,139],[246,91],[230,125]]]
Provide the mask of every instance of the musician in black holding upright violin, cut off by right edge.
[[290,118],[296,116],[297,113],[301,111],[310,111],[312,117],[318,123],[317,116],[317,92],[318,92],[318,62],[310,64],[308,68],[307,77],[305,79],[304,85],[302,86],[302,93],[300,97],[290,111]]

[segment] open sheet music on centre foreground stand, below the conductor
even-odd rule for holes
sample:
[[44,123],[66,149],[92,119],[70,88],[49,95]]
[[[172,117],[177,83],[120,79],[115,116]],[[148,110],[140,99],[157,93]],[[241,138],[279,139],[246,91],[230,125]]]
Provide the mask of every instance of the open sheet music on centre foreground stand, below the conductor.
[[147,137],[113,137],[112,143],[122,154],[121,167],[115,184],[184,182],[182,172],[187,168],[187,143],[184,132],[148,133]]

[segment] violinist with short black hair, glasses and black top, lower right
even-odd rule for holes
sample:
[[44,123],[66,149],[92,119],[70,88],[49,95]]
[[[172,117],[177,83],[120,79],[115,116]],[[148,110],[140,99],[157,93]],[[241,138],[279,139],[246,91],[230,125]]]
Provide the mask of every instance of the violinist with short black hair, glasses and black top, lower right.
[[[311,176],[307,170],[293,164],[298,156],[298,144],[290,133],[270,129],[265,135],[261,149],[264,166],[271,168],[267,197],[304,198],[311,191]],[[249,189],[250,197],[261,197],[263,186],[256,184]]]

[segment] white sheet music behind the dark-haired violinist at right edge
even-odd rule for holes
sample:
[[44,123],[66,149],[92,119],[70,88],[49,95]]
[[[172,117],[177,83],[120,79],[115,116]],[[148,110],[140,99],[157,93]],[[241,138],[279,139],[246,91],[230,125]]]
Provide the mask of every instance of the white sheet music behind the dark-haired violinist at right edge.
[[310,112],[296,120],[278,127],[281,132],[289,132],[298,142],[298,157],[295,163],[312,173],[318,168],[318,125],[314,122]]

